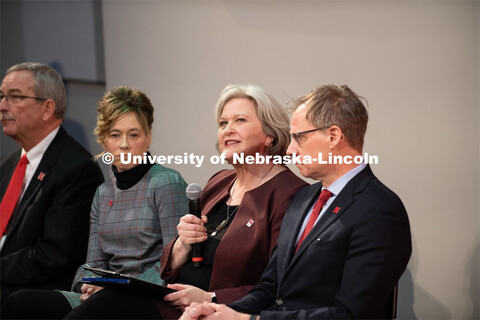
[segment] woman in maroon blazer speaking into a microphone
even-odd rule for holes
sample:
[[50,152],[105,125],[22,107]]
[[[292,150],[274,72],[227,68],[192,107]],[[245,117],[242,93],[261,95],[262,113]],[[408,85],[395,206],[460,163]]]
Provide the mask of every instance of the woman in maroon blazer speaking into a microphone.
[[[201,217],[187,214],[178,237],[164,249],[161,277],[177,290],[163,300],[102,290],[70,313],[70,318],[179,318],[192,302],[229,303],[258,283],[277,243],[280,225],[293,194],[306,183],[273,163],[235,163],[234,154],[285,155],[289,118],[280,104],[254,85],[229,85],[216,106],[218,151],[233,169],[216,173],[201,194]],[[203,261],[195,267],[192,245],[201,244]],[[132,303],[135,301],[135,303]],[[96,307],[92,307],[93,304]],[[88,308],[90,312],[83,313]],[[101,310],[101,311],[100,311]]]

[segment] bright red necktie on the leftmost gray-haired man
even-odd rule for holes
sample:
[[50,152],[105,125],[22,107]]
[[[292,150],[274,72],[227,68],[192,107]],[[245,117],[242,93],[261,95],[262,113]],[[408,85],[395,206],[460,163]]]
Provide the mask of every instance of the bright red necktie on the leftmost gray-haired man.
[[15,209],[15,206],[17,205],[20,190],[22,190],[27,163],[27,155],[24,154],[13,172],[7,191],[3,195],[2,203],[0,203],[0,234],[5,234],[8,221],[12,216],[13,209]]

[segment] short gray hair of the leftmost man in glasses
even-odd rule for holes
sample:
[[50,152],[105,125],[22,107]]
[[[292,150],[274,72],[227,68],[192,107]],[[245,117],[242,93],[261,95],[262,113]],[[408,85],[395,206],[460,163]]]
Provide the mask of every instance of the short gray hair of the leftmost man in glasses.
[[39,98],[55,101],[55,117],[63,119],[67,110],[67,93],[62,77],[52,67],[38,62],[23,62],[8,68],[6,74],[29,71],[35,79],[34,92]]

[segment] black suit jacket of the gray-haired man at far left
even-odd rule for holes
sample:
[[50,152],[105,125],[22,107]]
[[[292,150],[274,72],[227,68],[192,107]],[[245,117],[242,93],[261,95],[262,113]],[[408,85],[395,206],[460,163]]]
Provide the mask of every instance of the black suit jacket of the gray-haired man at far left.
[[[17,151],[0,161],[1,198],[19,159]],[[70,288],[85,262],[90,207],[102,182],[92,155],[60,127],[7,226],[2,298],[22,288]]]

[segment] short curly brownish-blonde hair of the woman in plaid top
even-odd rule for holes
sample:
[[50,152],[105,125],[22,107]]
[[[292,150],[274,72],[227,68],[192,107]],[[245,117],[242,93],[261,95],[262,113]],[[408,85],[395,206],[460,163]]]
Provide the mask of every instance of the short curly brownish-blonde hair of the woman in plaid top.
[[148,135],[152,131],[153,106],[147,95],[129,87],[118,87],[106,92],[97,107],[97,126],[93,131],[97,143],[103,146],[113,123],[129,112],[135,114]]

